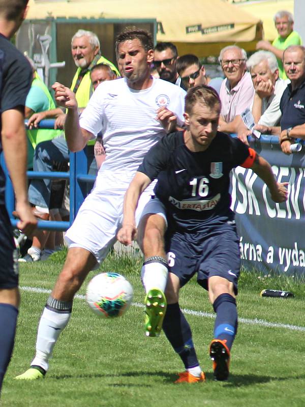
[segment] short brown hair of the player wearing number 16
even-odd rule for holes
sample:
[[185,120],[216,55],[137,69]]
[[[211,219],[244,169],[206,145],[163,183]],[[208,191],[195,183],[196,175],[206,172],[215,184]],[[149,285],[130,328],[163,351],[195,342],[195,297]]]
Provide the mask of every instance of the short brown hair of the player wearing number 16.
[[218,93],[210,86],[198,85],[188,90],[185,104],[186,113],[190,114],[197,102],[209,108],[217,107],[219,111],[221,109],[221,101]]

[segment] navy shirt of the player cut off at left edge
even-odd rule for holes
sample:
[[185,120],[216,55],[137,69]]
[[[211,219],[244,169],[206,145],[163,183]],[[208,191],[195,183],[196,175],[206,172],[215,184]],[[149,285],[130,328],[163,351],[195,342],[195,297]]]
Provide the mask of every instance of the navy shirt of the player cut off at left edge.
[[[32,83],[32,68],[14,45],[0,34],[0,114],[23,109]],[[0,154],[2,153],[0,117]],[[0,205],[4,204],[5,175],[0,166]]]

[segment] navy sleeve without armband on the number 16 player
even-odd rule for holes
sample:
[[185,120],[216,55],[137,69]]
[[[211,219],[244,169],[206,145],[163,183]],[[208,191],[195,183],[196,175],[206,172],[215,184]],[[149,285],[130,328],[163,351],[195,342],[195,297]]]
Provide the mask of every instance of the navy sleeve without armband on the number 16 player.
[[142,164],[139,166],[138,171],[143,172],[147,177],[153,181],[159,173],[166,169],[172,152],[171,139],[175,137],[176,133],[164,136],[155,144],[154,147],[147,152]]

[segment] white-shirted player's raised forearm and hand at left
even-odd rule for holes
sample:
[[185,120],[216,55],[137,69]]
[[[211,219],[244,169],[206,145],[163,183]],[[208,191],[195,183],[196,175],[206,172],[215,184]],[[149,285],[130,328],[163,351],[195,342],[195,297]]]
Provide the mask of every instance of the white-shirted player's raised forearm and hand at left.
[[52,88],[55,91],[57,104],[68,109],[65,135],[69,150],[72,152],[81,151],[94,135],[80,127],[77,100],[71,89],[58,82],[55,82]]

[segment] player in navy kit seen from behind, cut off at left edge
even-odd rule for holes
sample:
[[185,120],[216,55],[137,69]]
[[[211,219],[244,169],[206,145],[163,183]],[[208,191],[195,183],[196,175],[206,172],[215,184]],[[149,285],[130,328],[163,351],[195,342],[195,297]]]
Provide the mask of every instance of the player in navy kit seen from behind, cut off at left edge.
[[[25,99],[32,68],[10,42],[25,18],[27,0],[0,0],[0,154],[4,152],[13,182],[17,227],[31,234],[36,219],[27,200]],[[14,346],[18,306],[18,263],[9,215],[5,207],[5,174],[0,166],[0,390]]]

